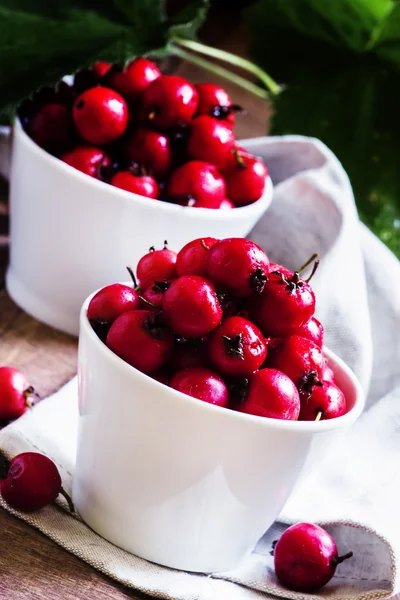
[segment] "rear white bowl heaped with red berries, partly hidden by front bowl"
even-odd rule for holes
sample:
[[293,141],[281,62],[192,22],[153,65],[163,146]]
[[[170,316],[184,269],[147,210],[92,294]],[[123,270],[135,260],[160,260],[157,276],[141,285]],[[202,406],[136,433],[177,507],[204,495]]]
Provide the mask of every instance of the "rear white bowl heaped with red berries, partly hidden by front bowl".
[[122,280],[149,239],[247,235],[272,183],[260,145],[236,142],[234,110],[221,88],[143,58],[124,71],[97,63],[26,100],[10,177],[15,302],[78,335],[83,300]]

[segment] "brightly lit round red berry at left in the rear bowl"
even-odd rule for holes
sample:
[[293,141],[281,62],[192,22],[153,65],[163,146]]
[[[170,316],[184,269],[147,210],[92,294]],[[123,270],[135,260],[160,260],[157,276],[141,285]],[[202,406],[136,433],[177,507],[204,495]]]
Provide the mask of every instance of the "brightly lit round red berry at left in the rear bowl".
[[126,102],[118,92],[97,86],[78,96],[72,116],[84,140],[103,145],[125,132],[129,115]]

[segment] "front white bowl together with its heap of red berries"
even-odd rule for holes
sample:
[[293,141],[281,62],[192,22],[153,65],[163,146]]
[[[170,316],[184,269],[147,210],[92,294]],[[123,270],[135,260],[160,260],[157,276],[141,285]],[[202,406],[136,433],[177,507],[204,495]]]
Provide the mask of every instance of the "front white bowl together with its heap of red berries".
[[92,529],[187,571],[252,552],[364,405],[323,346],[317,264],[305,279],[253,242],[210,236],[150,250],[137,281],[86,299],[73,500]]

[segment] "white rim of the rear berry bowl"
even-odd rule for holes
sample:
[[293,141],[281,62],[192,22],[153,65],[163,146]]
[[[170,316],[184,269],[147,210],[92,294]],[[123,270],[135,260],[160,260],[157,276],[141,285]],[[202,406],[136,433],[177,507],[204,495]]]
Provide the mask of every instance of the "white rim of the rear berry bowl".
[[[147,208],[150,208],[152,206],[151,202],[149,202],[149,198],[140,196],[139,194],[135,194],[133,192],[122,190],[120,188],[110,185],[109,183],[106,183],[105,181],[95,179],[94,177],[89,177],[85,173],[82,173],[74,167],[67,165],[60,158],[53,156],[52,154],[38,146],[38,144],[36,144],[36,142],[34,142],[29,137],[18,117],[16,117],[14,120],[13,137],[13,143],[15,143],[15,139],[19,140],[19,142],[26,145],[29,151],[36,153],[41,158],[41,160],[47,162],[50,167],[58,169],[60,172],[68,174],[70,177],[74,177],[75,179],[77,179],[77,181],[80,181],[85,185],[94,186],[94,189],[97,188],[99,191],[102,190],[104,193],[115,195],[116,197],[121,198],[121,200],[128,200],[129,203],[132,205],[134,205],[134,203],[137,203]],[[242,144],[250,140],[238,141]],[[86,145],[90,146],[93,144]],[[162,200],[157,200],[159,203],[157,204],[157,210],[164,211],[165,214],[168,216],[174,216],[178,214],[182,215],[184,211],[185,216],[190,216],[191,218],[198,218],[201,214],[202,218],[208,216],[210,220],[213,221],[226,221],[227,219],[241,220],[263,214],[272,202],[272,195],[273,185],[271,177],[268,174],[265,180],[265,187],[262,196],[258,200],[256,200],[256,202],[248,204],[247,206],[238,206],[231,210],[215,210],[210,208],[195,209],[190,206],[179,206],[178,204],[172,204],[169,202],[164,202]]]

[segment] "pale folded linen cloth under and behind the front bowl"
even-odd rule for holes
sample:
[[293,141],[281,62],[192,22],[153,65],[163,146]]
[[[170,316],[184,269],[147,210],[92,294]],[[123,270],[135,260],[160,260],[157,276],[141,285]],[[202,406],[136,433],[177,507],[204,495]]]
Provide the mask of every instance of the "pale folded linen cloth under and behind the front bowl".
[[[323,457],[286,504],[278,523],[234,571],[213,575],[164,568],[120,550],[72,516],[63,500],[16,513],[58,544],[121,583],[157,598],[252,600],[309,598],[277,581],[271,544],[288,524],[324,525],[339,551],[354,557],[313,598],[389,597],[400,590],[400,263],[357,218],[349,180],[318,140],[260,138],[258,154],[275,184],[270,209],[250,237],[270,258],[296,268],[318,252],[313,280],[325,342],[358,375],[367,392],[359,421]],[[77,436],[76,378],[0,432],[12,457],[36,450],[59,466],[71,488]]]

